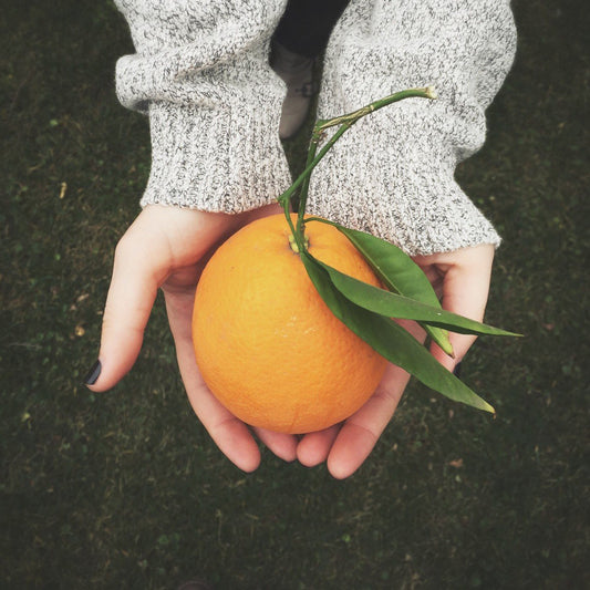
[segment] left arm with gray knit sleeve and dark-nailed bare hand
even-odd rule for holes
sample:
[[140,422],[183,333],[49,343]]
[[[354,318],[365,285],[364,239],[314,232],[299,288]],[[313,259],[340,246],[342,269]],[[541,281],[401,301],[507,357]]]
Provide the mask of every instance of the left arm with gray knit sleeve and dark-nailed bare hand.
[[[277,213],[272,201],[290,184],[278,135],[284,90],[267,60],[284,2],[117,4],[137,51],[117,63],[117,94],[149,115],[153,161],[144,208],[115,251],[99,362],[85,382],[102,392],[130,371],[162,289],[190,404],[219,448],[249,472],[260,460],[258,445],[203,382],[190,320],[211,249],[244,224]],[[256,434],[294,459],[294,437]]]

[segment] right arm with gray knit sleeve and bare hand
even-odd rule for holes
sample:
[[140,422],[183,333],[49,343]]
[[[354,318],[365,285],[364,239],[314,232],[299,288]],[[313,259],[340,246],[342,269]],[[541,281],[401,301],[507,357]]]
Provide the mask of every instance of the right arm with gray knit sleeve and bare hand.
[[[318,166],[310,210],[385,238],[414,257],[443,308],[482,320],[499,237],[454,179],[484,143],[485,110],[516,49],[507,0],[352,0],[328,46],[319,116],[330,118],[400,90],[434,85],[363,118]],[[406,324],[418,339],[415,324]],[[453,371],[475,338],[451,333]],[[354,473],[390,422],[408,380],[391,365],[375,395],[342,426],[304,436],[301,463]]]

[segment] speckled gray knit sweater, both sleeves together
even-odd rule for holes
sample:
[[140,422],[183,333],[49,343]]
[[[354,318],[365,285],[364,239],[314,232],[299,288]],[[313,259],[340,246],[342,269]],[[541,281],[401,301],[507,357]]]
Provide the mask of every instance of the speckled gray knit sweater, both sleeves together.
[[[268,64],[286,0],[116,0],[136,53],[117,95],[148,113],[152,170],[142,205],[238,213],[291,178],[278,135],[284,84]],[[454,179],[484,143],[485,108],[514,59],[508,0],[352,0],[325,53],[319,113],[348,113],[434,85],[365,117],[315,169],[308,210],[408,253],[499,244]]]

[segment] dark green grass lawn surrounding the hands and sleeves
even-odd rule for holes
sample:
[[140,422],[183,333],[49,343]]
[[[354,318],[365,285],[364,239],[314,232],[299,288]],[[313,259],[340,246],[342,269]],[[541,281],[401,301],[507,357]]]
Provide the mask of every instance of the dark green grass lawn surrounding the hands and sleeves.
[[162,301],[131,374],[107,394],[80,385],[149,168],[146,123],[114,94],[132,46],[108,2],[4,3],[0,588],[590,587],[590,23],[581,0],[514,9],[515,68],[457,174],[505,240],[487,320],[526,334],[482,339],[464,363],[497,420],[413,383],[337,482],[267,452],[251,475],[225,459]]

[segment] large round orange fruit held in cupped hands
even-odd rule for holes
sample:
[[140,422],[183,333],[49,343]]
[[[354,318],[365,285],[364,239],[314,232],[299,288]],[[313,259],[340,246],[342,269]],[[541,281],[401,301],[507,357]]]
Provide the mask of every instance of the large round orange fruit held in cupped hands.
[[[359,410],[386,361],[328,309],[290,235],[284,216],[273,215],[219,247],[197,287],[193,341],[205,382],[234,415],[251,426],[303,434]],[[338,229],[309,222],[306,236],[315,258],[380,286]]]

